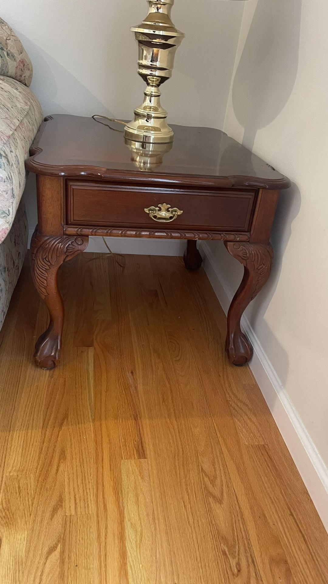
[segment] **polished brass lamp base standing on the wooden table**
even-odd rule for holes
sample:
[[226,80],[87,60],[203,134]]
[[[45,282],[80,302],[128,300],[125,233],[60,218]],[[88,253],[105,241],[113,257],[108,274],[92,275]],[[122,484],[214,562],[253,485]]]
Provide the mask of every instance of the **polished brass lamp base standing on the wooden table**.
[[159,86],[172,75],[175,53],[184,38],[171,20],[174,0],[147,0],[149,12],[141,25],[131,28],[138,43],[138,74],[147,86],[134,120],[125,126],[128,140],[165,144],[173,142],[168,112],[160,105]]

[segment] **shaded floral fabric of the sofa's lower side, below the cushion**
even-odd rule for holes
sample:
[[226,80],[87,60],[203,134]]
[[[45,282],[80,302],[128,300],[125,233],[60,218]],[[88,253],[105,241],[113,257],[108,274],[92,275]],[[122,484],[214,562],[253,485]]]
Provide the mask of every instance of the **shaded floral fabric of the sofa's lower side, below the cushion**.
[[27,249],[27,219],[21,201],[11,231],[0,245],[0,329],[16,286]]

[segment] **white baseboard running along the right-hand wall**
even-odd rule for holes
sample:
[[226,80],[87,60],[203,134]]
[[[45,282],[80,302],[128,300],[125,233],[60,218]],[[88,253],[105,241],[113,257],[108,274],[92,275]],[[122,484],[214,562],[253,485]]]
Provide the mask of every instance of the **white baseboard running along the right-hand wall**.
[[[227,314],[233,297],[232,290],[219,272],[214,255],[205,242],[201,245],[200,251],[204,259],[205,272],[219,303]],[[245,316],[242,317],[242,326],[254,349],[250,369],[259,384],[320,519],[328,531],[328,469]]]

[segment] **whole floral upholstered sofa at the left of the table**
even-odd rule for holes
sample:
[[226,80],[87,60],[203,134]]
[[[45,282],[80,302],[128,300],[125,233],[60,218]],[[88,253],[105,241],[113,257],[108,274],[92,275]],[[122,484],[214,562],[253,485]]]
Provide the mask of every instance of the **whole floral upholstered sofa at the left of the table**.
[[24,161],[42,121],[31,81],[32,63],[0,18],[0,329],[27,249]]

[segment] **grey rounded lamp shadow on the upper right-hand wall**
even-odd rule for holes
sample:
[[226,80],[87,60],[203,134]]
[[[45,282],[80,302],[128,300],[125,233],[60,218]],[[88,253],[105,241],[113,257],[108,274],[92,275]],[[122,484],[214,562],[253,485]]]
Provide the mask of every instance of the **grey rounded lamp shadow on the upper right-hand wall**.
[[301,0],[258,0],[232,85],[233,111],[250,150],[292,93],[300,28]]

